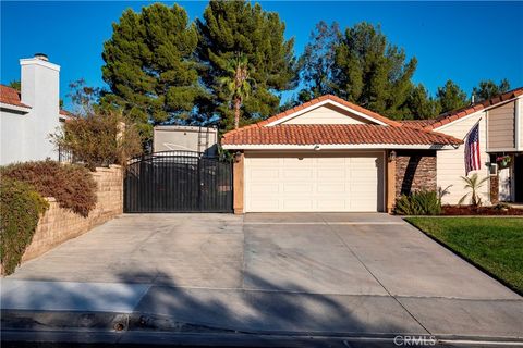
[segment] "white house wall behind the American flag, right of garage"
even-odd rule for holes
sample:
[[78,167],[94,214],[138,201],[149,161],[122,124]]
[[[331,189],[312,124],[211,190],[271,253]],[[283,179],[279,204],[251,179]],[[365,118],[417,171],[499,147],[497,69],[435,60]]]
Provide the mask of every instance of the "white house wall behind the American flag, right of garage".
[[[486,114],[485,112],[478,112],[471,116],[465,116],[453,123],[445,125],[442,127],[434,129],[435,132],[451,135],[458,139],[463,139],[469,130],[479,121],[479,145],[481,145],[481,163],[482,169],[477,172],[469,173],[469,176],[473,173],[478,173],[479,177],[488,176],[488,166],[485,164],[490,162],[489,156],[486,153]],[[461,176],[465,176],[465,160],[464,160],[464,145],[461,145],[455,150],[443,150],[437,152],[437,185],[438,187],[446,188],[449,185],[449,195],[442,199],[443,203],[457,204],[460,198],[467,192],[464,188],[464,183]],[[481,198],[484,203],[489,202],[489,182],[487,181],[481,189]]]

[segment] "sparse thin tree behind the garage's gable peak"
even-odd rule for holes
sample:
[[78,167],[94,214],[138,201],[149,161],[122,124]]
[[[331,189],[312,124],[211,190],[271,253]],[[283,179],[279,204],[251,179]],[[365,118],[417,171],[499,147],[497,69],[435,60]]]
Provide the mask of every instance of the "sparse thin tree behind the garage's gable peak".
[[320,21],[311,33],[309,42],[300,58],[300,77],[304,88],[299,100],[304,102],[332,92],[332,67],[335,48],[341,33],[338,23]]

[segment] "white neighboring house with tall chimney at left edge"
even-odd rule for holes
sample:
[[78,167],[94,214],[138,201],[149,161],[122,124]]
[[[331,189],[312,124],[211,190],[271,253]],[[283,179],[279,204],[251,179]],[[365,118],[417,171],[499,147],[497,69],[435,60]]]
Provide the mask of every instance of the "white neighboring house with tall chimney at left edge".
[[71,114],[60,110],[60,66],[45,54],[21,59],[21,90],[0,85],[0,164],[58,160],[49,135]]

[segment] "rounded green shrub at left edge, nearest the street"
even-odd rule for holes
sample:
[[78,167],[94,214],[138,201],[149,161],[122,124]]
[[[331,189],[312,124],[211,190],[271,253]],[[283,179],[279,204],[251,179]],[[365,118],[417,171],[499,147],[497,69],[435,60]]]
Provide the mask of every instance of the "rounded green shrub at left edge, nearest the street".
[[0,182],[0,260],[11,274],[29,245],[40,214],[49,203],[29,184],[2,177]]

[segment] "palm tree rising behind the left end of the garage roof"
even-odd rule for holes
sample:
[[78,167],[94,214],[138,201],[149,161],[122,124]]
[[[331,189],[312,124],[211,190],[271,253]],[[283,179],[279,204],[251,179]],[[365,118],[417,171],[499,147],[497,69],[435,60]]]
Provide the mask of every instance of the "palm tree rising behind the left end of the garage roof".
[[248,74],[247,58],[238,55],[236,59],[228,63],[226,71],[229,76],[220,77],[220,84],[226,86],[229,91],[231,107],[234,109],[234,129],[238,129],[240,126],[240,109],[251,94],[251,83],[253,80]]

